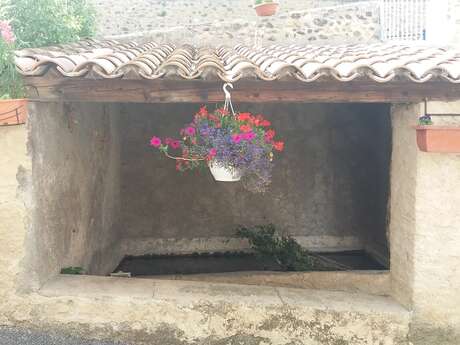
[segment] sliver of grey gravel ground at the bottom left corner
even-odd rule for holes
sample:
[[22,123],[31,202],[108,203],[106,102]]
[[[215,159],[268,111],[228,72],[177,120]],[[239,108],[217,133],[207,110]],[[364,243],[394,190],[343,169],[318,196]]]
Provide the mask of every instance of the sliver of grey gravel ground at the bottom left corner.
[[0,327],[0,345],[126,345],[85,340],[65,335],[45,334],[18,328]]

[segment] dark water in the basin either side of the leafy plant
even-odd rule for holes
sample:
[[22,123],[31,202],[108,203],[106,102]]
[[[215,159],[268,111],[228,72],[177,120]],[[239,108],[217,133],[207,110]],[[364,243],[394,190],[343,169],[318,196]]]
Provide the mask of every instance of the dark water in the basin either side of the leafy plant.
[[[354,270],[386,269],[363,251],[322,253],[321,255]],[[168,274],[224,273],[242,271],[281,271],[279,265],[260,260],[253,254],[148,255],[125,257],[115,272],[131,272],[133,276]]]

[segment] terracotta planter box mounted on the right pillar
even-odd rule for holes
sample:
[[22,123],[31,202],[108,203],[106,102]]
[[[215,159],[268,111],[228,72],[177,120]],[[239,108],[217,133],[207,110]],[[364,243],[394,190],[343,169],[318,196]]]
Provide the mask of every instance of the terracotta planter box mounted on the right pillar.
[[460,127],[415,126],[417,145],[423,152],[460,153]]

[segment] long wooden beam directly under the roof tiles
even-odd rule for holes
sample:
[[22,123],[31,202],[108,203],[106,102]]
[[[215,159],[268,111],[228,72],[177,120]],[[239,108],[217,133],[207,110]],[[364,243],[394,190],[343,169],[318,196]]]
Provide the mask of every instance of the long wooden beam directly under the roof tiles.
[[[222,82],[26,78],[29,96],[42,101],[214,103],[223,101]],[[244,80],[234,83],[235,102],[403,103],[460,99],[460,84],[370,81],[313,82]]]

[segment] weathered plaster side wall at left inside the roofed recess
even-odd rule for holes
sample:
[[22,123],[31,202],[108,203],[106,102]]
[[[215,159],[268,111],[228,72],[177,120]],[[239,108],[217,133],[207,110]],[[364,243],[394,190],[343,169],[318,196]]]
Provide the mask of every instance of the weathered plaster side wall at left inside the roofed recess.
[[69,266],[106,274],[117,265],[120,142],[115,112],[115,106],[101,104],[31,106],[33,199],[26,280],[36,274],[33,280],[41,284]]

